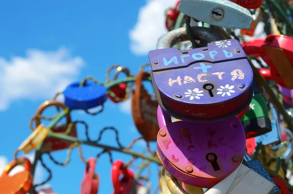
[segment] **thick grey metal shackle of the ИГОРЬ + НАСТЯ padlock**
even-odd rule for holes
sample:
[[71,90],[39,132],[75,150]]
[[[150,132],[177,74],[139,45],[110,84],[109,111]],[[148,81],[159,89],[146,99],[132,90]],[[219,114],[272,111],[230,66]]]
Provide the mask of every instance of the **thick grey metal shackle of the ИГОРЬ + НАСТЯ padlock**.
[[[222,34],[210,28],[191,26],[191,31],[196,40],[201,40],[207,43],[226,40]],[[159,40],[157,49],[171,48],[177,43],[185,41],[189,41],[188,33],[185,27],[177,28],[168,32]]]

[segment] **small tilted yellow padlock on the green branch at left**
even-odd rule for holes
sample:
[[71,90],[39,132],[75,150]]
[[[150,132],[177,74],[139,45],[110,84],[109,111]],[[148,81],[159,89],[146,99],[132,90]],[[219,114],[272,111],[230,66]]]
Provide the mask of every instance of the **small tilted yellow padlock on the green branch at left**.
[[23,151],[25,154],[34,150],[48,135],[50,129],[44,128],[43,124],[40,124],[37,129],[21,143],[18,150]]

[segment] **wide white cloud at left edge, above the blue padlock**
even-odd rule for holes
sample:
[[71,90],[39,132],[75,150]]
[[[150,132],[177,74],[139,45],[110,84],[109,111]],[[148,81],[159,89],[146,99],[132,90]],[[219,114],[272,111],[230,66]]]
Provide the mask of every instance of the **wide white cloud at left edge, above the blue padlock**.
[[26,57],[0,58],[0,111],[19,99],[48,99],[75,81],[84,61],[69,50],[29,49]]

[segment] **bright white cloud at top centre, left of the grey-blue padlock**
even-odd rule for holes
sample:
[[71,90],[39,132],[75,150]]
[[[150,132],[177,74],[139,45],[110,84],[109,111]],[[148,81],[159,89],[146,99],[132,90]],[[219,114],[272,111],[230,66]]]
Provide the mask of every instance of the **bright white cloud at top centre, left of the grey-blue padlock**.
[[167,33],[165,10],[174,7],[177,0],[147,0],[138,13],[138,21],[129,32],[130,49],[134,54],[145,55],[156,49],[159,38]]

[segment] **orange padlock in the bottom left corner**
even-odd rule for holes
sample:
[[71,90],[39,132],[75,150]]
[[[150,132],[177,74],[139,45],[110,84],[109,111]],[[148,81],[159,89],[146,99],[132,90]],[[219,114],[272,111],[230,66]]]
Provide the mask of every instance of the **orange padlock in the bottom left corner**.
[[[9,176],[9,172],[18,165],[22,165],[24,171]],[[22,157],[18,161],[11,161],[6,165],[0,177],[0,194],[26,194],[33,183],[30,172],[31,163],[27,158]]]

